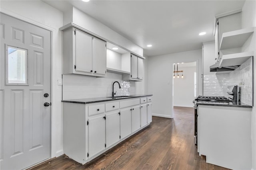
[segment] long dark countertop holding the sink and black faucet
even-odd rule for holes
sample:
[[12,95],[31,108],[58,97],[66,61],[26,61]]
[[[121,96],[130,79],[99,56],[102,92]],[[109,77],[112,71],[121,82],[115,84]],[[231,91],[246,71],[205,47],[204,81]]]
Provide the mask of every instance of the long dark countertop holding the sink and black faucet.
[[72,99],[72,100],[62,100],[61,102],[67,102],[67,103],[79,103],[79,104],[90,104],[90,103],[97,103],[97,102],[108,102],[112,100],[123,100],[123,99],[130,99],[130,98],[140,98],[140,97],[146,97],[146,96],[152,96],[152,94],[137,94],[134,96],[127,96],[127,97],[121,97],[118,98],[118,96],[112,98],[108,97],[101,97],[101,98],[86,98],[86,99]]

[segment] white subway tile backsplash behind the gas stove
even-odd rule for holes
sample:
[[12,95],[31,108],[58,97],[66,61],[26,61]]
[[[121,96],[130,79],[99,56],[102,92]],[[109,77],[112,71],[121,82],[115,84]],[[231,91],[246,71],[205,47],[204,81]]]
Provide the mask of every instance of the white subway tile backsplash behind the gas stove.
[[252,58],[248,59],[236,70],[225,74],[206,74],[203,80],[204,96],[227,96],[227,86],[240,87],[240,101],[252,105]]

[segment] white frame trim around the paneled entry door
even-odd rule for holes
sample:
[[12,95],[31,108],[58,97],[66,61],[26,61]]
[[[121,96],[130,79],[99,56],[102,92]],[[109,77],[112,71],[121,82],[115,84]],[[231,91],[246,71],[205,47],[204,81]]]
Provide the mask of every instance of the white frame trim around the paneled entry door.
[[[56,87],[57,86],[57,83],[55,81],[52,81],[52,80],[56,80],[56,72],[53,72],[52,71],[52,65],[53,64],[56,64],[56,58],[53,59],[53,55],[56,56],[56,52],[52,51],[53,47],[55,47],[56,45],[54,45],[53,42],[56,42],[56,34],[57,34],[57,30],[52,28],[52,27],[49,27],[48,25],[44,25],[42,23],[39,23],[37,21],[34,21],[34,20],[30,20],[29,18],[26,18],[24,16],[21,16],[19,14],[16,14],[14,12],[10,12],[8,10],[5,10],[3,8],[0,8],[0,12],[3,13],[3,14],[6,14],[8,16],[11,16],[11,17],[14,17],[18,20],[21,20],[21,21],[24,21],[26,23],[30,23],[32,25],[36,25],[38,27],[41,27],[43,29],[47,29],[48,31],[50,31],[50,40],[51,40],[51,44],[50,44],[50,96],[51,96],[51,102],[53,103],[56,103],[56,95],[55,95],[55,90],[53,90],[54,88],[53,87]],[[55,36],[53,36],[55,35]],[[54,78],[54,79],[53,79]],[[51,106],[50,107],[50,158],[52,158],[53,155],[55,155],[54,153],[52,153],[52,111],[55,112],[56,110],[56,107],[54,106]],[[45,160],[44,160],[45,161]],[[40,163],[40,162],[38,162]],[[34,166],[34,165],[33,165]]]

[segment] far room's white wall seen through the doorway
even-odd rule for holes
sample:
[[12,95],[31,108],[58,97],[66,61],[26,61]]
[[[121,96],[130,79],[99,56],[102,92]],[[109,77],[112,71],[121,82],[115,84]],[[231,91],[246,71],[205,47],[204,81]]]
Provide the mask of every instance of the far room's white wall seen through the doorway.
[[179,67],[179,70],[183,70],[184,78],[181,78],[180,73],[180,78],[175,77],[173,79],[173,106],[193,107],[196,67]]

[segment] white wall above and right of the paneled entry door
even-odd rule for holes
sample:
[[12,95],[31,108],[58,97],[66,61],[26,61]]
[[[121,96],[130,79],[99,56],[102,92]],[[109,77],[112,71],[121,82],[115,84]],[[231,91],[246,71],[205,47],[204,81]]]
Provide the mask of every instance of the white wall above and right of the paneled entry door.
[[52,31],[52,117],[51,156],[63,154],[61,86],[57,79],[62,74],[61,32],[63,14],[42,1],[0,1],[0,11]]

